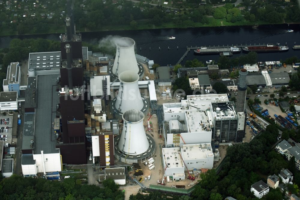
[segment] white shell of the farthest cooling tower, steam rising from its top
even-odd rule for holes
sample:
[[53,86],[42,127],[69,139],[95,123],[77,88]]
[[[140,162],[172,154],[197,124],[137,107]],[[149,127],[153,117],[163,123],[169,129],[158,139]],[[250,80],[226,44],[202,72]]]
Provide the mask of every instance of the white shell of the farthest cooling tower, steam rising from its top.
[[116,41],[117,51],[116,59],[113,64],[113,74],[117,76],[123,71],[134,71],[139,72],[139,67],[137,65],[137,59],[134,53],[135,41],[131,38],[119,38]]

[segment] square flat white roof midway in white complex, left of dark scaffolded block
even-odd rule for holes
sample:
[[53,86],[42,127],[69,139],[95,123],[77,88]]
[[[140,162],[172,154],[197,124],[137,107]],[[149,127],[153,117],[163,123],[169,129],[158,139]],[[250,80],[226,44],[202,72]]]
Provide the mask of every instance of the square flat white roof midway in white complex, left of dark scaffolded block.
[[189,132],[211,131],[206,111],[187,110],[185,115]]

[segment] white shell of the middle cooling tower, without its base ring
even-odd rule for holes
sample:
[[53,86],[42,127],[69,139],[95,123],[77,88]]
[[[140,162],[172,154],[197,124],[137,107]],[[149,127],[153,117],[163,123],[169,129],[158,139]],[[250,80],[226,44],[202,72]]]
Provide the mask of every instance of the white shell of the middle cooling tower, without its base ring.
[[139,89],[139,75],[134,71],[124,71],[119,75],[120,87],[115,108],[124,113],[130,109],[142,110],[143,99]]

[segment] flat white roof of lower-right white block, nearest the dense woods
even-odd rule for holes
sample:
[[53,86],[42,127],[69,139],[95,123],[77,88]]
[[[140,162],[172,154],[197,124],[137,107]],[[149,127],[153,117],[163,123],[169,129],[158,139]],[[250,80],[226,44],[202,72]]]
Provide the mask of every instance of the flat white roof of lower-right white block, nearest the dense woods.
[[184,160],[189,159],[205,159],[208,156],[214,156],[211,144],[183,144],[180,145],[181,153]]

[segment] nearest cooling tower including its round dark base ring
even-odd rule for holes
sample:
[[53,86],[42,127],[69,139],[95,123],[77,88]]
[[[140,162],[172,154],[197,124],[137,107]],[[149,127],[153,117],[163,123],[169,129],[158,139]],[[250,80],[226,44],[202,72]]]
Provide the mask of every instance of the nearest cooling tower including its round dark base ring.
[[128,110],[122,119],[124,121],[122,134],[115,140],[118,142],[115,145],[115,157],[126,163],[152,157],[155,153],[155,141],[145,132],[143,112],[136,109]]

